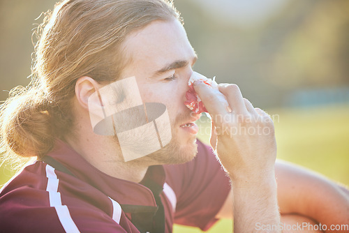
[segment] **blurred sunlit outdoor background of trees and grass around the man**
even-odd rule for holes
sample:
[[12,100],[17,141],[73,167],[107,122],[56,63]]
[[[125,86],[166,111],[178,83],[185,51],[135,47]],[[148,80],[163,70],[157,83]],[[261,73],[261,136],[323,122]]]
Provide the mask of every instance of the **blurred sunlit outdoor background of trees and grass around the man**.
[[[31,34],[54,0],[0,1],[0,100],[29,84]],[[174,0],[195,70],[274,116],[279,159],[349,185],[349,1]],[[38,20],[35,20],[38,18]],[[208,143],[209,123],[199,138]],[[0,168],[0,185],[13,175]],[[209,232],[231,232],[221,220]],[[175,226],[174,232],[200,232]]]

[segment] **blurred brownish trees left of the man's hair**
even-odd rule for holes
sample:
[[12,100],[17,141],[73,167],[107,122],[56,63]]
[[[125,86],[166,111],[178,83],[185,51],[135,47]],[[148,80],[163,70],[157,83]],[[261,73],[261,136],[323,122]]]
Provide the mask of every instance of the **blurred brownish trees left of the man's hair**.
[[[53,8],[54,0],[0,1],[0,100],[17,85],[27,86],[31,74],[31,34],[43,20],[40,13]],[[6,90],[6,91],[3,91]]]

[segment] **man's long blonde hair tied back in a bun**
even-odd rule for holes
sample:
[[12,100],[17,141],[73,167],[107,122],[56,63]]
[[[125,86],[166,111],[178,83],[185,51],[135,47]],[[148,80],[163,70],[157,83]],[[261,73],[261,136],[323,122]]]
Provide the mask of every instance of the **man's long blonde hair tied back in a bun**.
[[38,27],[28,87],[16,87],[0,108],[1,151],[6,158],[44,156],[70,133],[75,82],[117,80],[126,58],[122,43],[154,20],[180,20],[166,0],[66,0]]

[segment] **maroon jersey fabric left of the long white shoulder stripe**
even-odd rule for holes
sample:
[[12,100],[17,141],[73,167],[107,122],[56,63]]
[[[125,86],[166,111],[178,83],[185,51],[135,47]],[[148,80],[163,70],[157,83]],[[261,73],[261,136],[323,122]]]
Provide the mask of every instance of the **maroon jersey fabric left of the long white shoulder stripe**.
[[[0,226],[4,232],[34,232],[64,229],[52,221],[55,210],[50,208],[47,195],[45,166],[40,162],[29,165],[2,188],[0,193]],[[37,219],[37,220],[36,220]],[[39,220],[40,219],[40,220]],[[40,228],[38,228],[40,225]],[[28,228],[29,227],[29,228]],[[29,230],[30,229],[30,230]]]

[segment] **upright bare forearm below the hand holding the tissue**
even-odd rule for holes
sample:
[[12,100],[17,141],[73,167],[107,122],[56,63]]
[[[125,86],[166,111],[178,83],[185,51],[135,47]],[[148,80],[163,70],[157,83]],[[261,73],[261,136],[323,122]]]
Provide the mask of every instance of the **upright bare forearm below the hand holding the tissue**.
[[274,177],[256,183],[232,181],[232,186],[234,232],[280,232]]

